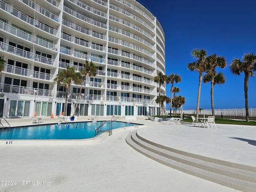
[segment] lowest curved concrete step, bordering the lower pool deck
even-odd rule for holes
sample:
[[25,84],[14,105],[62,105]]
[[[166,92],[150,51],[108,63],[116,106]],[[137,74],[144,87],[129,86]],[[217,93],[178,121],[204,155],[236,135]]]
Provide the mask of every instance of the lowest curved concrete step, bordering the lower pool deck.
[[[169,158],[169,157],[172,157],[174,154],[172,154],[172,156],[169,156],[170,154],[168,155],[167,153],[165,153],[167,155],[164,155],[163,151],[161,151],[161,153],[154,153],[153,146],[146,146],[144,148],[142,146],[144,146],[145,143],[143,143],[143,145],[141,143],[140,143],[140,145],[138,145],[137,142],[139,142],[139,138],[138,137],[136,138],[136,137],[137,137],[137,135],[135,134],[135,132],[132,134],[129,134],[126,137],[126,142],[132,148],[139,151],[141,154],[143,154],[151,159],[154,159],[155,161],[157,161],[159,163],[170,166],[173,169],[177,169],[179,171],[194,175],[196,177],[199,177],[199,178],[202,178],[205,180],[209,180],[209,181],[212,181],[215,183],[219,183],[220,185],[223,185],[223,186],[234,188],[236,190],[254,191],[254,192],[256,191],[255,182],[250,182],[250,181],[246,181],[243,179],[237,179],[234,177],[229,177],[225,174],[212,172],[211,170],[214,170],[213,167],[210,167],[209,170],[200,169],[197,166],[193,166],[193,165],[196,165],[196,163],[191,163],[191,165],[189,165],[189,163],[187,162],[187,164],[186,164],[185,162],[188,161],[188,159],[186,159],[186,161],[182,159],[181,162],[175,161],[172,158]],[[134,140],[136,140],[136,142]],[[148,150],[149,148],[151,148],[151,149]],[[178,160],[179,157],[177,156],[174,159]],[[190,161],[191,161],[191,159],[190,159]],[[206,165],[203,165],[203,166],[206,166]],[[243,173],[245,173],[245,172],[243,172]],[[237,175],[237,174],[238,174],[237,172],[234,173],[234,175]],[[239,177],[241,177],[241,176],[239,176]],[[251,176],[249,176],[249,177],[251,177]],[[242,178],[244,178],[244,177],[242,177]]]

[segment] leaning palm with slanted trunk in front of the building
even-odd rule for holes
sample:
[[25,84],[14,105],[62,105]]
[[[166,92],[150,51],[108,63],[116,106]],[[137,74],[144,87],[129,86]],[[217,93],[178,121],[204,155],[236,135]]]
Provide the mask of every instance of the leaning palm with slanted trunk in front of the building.
[[81,87],[80,87],[80,91],[76,100],[76,105],[75,105],[75,110],[73,113],[73,116],[75,116],[76,113],[76,108],[78,106],[78,99],[81,97],[81,93],[82,93],[82,87],[83,87],[83,83],[84,83],[84,79],[87,75],[91,76],[95,76],[97,74],[97,67],[95,67],[95,65],[93,64],[92,61],[85,61],[85,64],[83,65],[83,68],[80,70],[80,74],[81,74]]

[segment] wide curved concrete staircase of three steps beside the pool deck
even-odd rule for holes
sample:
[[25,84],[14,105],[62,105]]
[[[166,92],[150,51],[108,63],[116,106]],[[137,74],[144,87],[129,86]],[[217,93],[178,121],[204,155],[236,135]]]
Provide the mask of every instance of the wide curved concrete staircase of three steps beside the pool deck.
[[159,145],[137,131],[126,142],[139,153],[173,169],[241,191],[256,191],[256,167],[222,161]]

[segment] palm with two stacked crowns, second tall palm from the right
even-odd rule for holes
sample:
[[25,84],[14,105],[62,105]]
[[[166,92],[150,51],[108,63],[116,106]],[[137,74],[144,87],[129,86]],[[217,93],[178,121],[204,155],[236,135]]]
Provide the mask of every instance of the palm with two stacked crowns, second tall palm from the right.
[[224,84],[226,82],[225,77],[222,73],[216,74],[216,67],[225,68],[227,66],[226,60],[223,57],[218,57],[216,54],[210,55],[206,58],[206,72],[207,74],[203,77],[204,83],[211,82],[211,106],[212,106],[212,116],[214,113],[213,104],[213,89],[215,84]]

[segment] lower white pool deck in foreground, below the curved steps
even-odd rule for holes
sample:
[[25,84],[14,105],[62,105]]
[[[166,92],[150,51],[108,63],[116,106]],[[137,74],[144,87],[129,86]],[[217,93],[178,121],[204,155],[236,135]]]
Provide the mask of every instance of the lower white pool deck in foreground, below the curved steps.
[[[136,122],[152,130],[162,127]],[[49,187],[0,186],[0,191],[235,191],[143,156],[125,142],[132,131],[117,132],[97,145],[0,146],[0,181],[50,182]]]

